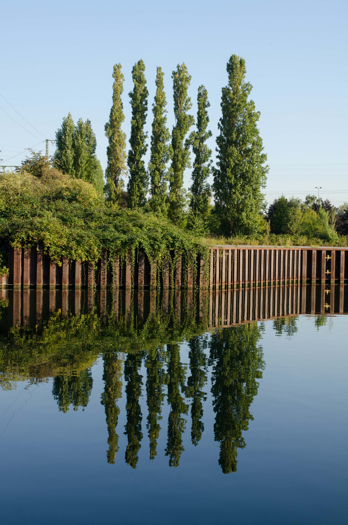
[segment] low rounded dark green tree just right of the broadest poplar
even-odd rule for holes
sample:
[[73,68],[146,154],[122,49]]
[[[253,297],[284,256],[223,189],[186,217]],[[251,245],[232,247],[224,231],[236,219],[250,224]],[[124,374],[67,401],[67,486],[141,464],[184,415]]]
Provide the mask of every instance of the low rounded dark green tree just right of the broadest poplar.
[[269,206],[267,217],[271,233],[290,234],[299,232],[301,209],[298,199],[287,199],[282,195]]

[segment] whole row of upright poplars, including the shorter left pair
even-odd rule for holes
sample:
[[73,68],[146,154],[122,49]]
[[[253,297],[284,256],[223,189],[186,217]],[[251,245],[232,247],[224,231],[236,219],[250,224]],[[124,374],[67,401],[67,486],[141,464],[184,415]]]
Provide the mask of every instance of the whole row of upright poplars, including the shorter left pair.
[[[179,64],[172,71],[175,124],[171,131],[167,127],[164,74],[160,67],[157,68],[150,144],[145,129],[148,115],[145,64],[139,60],[134,65],[134,87],[129,92],[131,127],[128,152],[126,134],[122,131],[125,120],[122,102],[124,75],[120,64],[114,66],[112,107],[105,125],[109,144],[104,196],[108,207],[151,211],[169,218],[176,226],[187,227],[199,234],[253,235],[262,230],[261,189],[265,185],[268,166],[265,165],[267,156],[262,152],[257,128],[260,113],[249,100],[252,86],[245,81],[245,60],[232,55],[227,72],[228,84],[222,88],[220,133],[216,139],[217,162],[213,167],[212,151],[207,145],[212,135],[208,92],[204,86],[198,88],[195,119],[190,113],[192,102],[188,89],[191,76],[186,65]],[[79,119],[75,126],[69,113],[56,133],[56,145],[56,167],[71,177],[91,182],[100,190],[100,165],[95,158],[95,136],[90,122]],[[150,159],[146,165],[148,148]],[[187,193],[183,188],[183,174],[191,168],[191,185]],[[213,175],[212,186],[208,184],[210,175]]]

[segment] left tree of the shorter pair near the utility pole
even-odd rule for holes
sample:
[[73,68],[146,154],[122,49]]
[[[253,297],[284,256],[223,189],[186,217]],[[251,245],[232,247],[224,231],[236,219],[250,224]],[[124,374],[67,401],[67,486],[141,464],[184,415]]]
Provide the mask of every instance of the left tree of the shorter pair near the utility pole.
[[58,170],[73,178],[75,177],[74,133],[75,125],[69,112],[68,116],[63,118],[62,127],[56,131],[56,151],[53,160]]

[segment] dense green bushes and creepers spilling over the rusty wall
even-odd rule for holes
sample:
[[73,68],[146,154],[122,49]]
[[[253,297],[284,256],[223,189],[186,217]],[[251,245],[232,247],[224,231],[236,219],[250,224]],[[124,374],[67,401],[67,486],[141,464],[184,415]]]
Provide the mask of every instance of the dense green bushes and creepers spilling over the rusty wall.
[[111,209],[95,188],[55,169],[41,178],[26,173],[0,175],[0,238],[19,247],[43,244],[54,261],[63,257],[92,263],[142,248],[159,265],[171,250],[188,260],[208,254],[202,240],[152,213]]

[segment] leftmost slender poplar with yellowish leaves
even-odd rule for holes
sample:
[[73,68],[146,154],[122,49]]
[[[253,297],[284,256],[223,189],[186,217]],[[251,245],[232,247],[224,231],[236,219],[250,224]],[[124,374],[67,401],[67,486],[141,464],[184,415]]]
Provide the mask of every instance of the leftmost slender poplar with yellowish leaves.
[[105,135],[109,139],[106,149],[108,164],[106,168],[106,202],[109,206],[117,207],[123,187],[122,175],[126,172],[126,133],[122,131],[122,122],[125,120],[121,95],[123,93],[124,75],[121,64],[115,64],[112,78],[112,107],[109,121],[105,124]]

